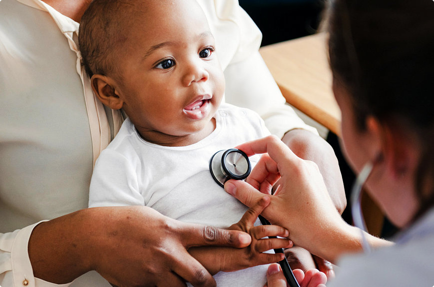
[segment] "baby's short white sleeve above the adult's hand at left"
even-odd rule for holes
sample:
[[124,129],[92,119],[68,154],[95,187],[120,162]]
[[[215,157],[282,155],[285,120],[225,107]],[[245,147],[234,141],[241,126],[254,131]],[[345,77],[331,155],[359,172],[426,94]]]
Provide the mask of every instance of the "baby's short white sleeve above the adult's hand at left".
[[89,207],[145,205],[131,160],[105,149],[96,160],[89,189]]

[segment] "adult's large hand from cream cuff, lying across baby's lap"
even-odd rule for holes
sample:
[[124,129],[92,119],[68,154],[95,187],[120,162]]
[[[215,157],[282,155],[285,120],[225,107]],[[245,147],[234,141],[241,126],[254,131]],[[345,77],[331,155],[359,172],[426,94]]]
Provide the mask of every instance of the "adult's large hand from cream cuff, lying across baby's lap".
[[51,283],[96,270],[117,286],[215,286],[187,249],[250,243],[246,233],[182,223],[147,207],[104,207],[39,224],[28,252],[34,276]]

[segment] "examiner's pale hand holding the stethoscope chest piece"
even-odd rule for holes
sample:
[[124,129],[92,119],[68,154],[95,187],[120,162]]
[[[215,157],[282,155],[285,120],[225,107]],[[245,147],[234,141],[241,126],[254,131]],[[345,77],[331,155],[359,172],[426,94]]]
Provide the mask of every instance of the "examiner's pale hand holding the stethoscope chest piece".
[[[262,215],[289,231],[294,245],[335,261],[336,237],[347,224],[336,210],[323,177],[312,161],[297,157],[279,138],[269,136],[239,145],[248,156],[264,154],[246,182],[229,180],[225,190],[247,206],[267,194],[270,205]],[[278,182],[274,195],[272,188]],[[329,245],[329,246],[328,246]]]

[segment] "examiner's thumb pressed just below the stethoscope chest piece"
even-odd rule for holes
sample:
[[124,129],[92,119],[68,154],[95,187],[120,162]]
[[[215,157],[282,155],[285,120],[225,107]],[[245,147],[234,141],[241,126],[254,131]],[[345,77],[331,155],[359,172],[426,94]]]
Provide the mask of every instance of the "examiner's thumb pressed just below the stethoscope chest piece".
[[225,191],[248,207],[252,207],[265,196],[265,194],[260,193],[253,186],[242,180],[228,180],[225,183]]

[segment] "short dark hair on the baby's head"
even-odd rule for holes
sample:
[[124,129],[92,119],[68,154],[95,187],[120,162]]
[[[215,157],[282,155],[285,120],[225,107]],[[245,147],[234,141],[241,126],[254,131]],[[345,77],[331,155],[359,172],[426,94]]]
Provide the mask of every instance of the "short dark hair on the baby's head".
[[78,45],[87,74],[116,72],[115,53],[127,38],[125,22],[134,0],[93,0],[80,21]]

